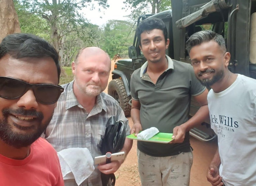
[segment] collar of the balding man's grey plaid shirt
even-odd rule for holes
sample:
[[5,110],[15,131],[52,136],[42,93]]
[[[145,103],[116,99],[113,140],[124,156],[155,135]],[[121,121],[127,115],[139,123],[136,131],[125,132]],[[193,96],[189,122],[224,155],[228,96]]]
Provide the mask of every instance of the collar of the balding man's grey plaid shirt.
[[[67,92],[66,95],[66,110],[70,109],[71,107],[78,106],[80,108],[83,108],[82,105],[80,105],[75,97],[74,91],[73,91],[73,85],[74,80],[70,82],[70,84],[65,88],[65,91]],[[98,111],[104,110],[107,111],[106,104],[104,104],[102,93],[97,96],[96,98],[96,104],[94,106]]]

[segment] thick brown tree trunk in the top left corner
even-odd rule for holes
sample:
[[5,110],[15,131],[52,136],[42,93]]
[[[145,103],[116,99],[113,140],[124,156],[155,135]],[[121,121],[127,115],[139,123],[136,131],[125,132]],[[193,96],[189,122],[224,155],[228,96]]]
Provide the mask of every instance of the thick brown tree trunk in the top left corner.
[[8,34],[20,33],[18,15],[13,0],[0,0],[0,42]]

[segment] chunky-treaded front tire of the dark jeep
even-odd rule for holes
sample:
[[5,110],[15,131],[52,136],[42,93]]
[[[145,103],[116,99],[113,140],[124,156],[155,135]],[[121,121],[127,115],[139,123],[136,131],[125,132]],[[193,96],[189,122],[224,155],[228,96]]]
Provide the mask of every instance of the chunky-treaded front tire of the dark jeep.
[[129,105],[130,96],[127,96],[125,91],[124,82],[122,79],[113,79],[108,84],[107,93],[111,95],[121,108],[123,109],[125,116],[130,116],[131,106]]

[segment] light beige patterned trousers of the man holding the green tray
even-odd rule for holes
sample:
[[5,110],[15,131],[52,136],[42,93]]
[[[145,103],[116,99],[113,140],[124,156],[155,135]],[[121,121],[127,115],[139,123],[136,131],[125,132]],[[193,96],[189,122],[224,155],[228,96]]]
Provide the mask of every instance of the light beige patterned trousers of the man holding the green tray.
[[137,149],[137,156],[142,186],[189,186],[192,151],[174,156],[154,157]]

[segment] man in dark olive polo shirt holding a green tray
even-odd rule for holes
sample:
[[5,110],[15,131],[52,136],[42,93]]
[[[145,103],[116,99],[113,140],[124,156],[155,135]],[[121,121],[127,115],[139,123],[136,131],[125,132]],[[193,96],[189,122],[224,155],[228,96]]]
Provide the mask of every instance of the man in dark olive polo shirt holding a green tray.
[[[131,76],[131,133],[150,127],[173,133],[171,143],[137,143],[138,168],[142,185],[189,185],[193,156],[189,130],[209,117],[208,90],[195,77],[190,64],[165,55],[167,29],[162,20],[148,18],[136,30],[147,62]],[[201,107],[188,120],[190,99]]]

